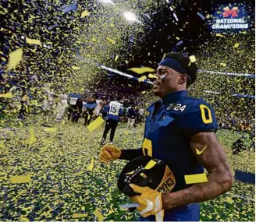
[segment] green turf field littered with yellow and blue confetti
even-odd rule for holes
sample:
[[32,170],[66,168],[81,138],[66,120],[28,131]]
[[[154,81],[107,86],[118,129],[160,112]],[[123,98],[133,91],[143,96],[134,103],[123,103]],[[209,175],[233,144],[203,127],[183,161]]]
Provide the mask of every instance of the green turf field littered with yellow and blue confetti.
[[[98,209],[105,220],[137,220],[137,213],[119,210],[131,203],[120,194],[116,181],[126,161],[104,165],[98,161],[103,125],[90,133],[79,124],[55,124],[57,132],[44,132],[34,120],[28,126],[0,129],[0,220],[98,220]],[[37,141],[28,146],[29,129]],[[119,125],[116,143],[120,148],[139,147],[143,127],[136,131]],[[254,172],[254,153],[231,154],[230,145],[240,135],[218,132],[234,169]],[[93,171],[87,171],[94,157]],[[30,174],[29,184],[11,184],[12,175]],[[233,197],[244,196],[244,199]],[[229,199],[231,197],[231,199]],[[254,221],[254,185],[235,182],[228,194],[201,203],[201,220]],[[73,213],[86,217],[73,219]]]

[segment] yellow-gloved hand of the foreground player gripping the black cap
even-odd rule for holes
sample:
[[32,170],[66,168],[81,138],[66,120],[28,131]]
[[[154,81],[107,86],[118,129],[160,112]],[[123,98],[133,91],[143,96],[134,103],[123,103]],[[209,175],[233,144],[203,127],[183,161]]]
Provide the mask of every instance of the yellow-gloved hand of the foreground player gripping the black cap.
[[156,221],[162,221],[164,217],[164,210],[162,210],[162,193],[157,192],[148,186],[140,187],[130,184],[130,187],[134,192],[141,193],[140,196],[131,197],[133,202],[140,205],[137,207],[140,215],[142,217],[155,215]]

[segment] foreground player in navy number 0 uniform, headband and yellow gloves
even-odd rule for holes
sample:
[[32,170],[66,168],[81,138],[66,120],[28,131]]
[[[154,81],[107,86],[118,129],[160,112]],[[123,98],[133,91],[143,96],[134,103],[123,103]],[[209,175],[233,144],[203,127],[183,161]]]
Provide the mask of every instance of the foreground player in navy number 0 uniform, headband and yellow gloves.
[[[153,92],[160,100],[146,111],[144,143],[139,149],[120,150],[106,144],[99,159],[133,160],[148,155],[165,160],[175,179],[169,193],[130,185],[140,220],[199,221],[200,202],[228,192],[233,185],[226,153],[215,136],[217,122],[212,107],[202,99],[189,97],[187,87],[197,79],[197,65],[181,53],[165,55],[158,65]],[[185,175],[208,172],[208,182],[187,184]]]

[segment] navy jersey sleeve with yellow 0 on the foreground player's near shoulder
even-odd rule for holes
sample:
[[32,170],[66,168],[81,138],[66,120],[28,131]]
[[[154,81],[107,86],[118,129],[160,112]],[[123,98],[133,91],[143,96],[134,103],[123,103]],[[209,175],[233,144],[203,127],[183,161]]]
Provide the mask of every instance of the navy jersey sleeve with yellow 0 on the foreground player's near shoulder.
[[192,104],[180,118],[179,125],[188,136],[193,136],[197,132],[216,132],[218,129],[215,112],[204,100]]

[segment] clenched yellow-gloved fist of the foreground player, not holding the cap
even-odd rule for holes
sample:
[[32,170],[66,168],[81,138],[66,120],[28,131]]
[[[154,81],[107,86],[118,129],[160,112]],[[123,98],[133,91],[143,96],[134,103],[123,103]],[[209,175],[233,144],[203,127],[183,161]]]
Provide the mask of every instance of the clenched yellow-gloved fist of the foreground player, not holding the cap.
[[114,160],[117,160],[121,155],[121,150],[113,144],[106,144],[102,147],[100,156],[98,159],[101,163],[109,164]]

